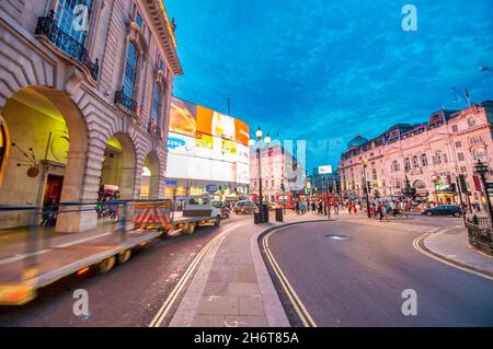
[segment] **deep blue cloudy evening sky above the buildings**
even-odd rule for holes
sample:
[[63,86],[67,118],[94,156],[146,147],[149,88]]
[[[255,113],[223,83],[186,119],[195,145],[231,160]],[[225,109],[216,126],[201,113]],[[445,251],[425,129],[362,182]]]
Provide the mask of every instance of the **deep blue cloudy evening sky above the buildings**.
[[[401,9],[417,8],[417,32]],[[164,0],[185,74],[173,94],[307,140],[308,168],[397,123],[493,100],[492,0]]]

